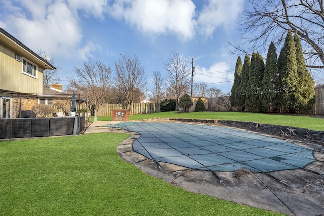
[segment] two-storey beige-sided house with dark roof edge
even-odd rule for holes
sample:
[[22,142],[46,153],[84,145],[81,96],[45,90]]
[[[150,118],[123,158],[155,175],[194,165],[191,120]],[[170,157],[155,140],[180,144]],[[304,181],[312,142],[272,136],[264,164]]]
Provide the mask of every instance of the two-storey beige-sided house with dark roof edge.
[[45,69],[55,67],[0,28],[0,118],[17,117],[20,95],[43,94]]

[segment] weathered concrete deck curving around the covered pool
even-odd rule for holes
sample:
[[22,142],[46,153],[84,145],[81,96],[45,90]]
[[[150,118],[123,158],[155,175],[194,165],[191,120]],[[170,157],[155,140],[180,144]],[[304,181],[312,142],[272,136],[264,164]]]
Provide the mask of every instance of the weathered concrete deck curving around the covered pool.
[[[120,132],[130,133],[121,128],[109,127],[120,122],[94,122],[86,133]],[[190,124],[181,124],[183,127]],[[238,132],[246,132],[237,129]],[[187,168],[165,162],[150,160],[133,151],[132,143],[140,134],[121,142],[118,153],[126,161],[134,164],[147,174],[182,187],[188,191],[208,194],[218,199],[239,204],[277,211],[290,215],[323,215],[324,197],[324,146],[295,140],[301,148],[314,150],[315,162],[299,169],[271,172],[252,172],[246,169],[236,171],[206,171]],[[254,133],[256,136],[259,133]],[[265,135],[271,137],[269,135]]]

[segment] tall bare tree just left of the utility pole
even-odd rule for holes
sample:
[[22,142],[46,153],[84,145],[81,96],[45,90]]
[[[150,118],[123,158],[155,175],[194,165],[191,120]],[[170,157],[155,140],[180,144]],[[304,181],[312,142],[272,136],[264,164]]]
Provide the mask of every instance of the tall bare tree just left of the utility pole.
[[191,67],[188,61],[175,51],[170,52],[163,66],[167,71],[167,91],[176,97],[175,110],[177,111],[180,97],[189,91]]

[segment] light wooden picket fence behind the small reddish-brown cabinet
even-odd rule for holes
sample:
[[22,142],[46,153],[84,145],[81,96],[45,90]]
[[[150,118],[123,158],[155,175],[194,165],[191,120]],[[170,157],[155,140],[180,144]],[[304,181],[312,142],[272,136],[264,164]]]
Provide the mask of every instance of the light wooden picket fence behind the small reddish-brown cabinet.
[[[113,109],[129,109],[127,104],[101,104],[97,109],[97,116],[111,116]],[[130,113],[134,114],[146,114],[155,113],[156,106],[154,103],[136,103],[133,104]]]

